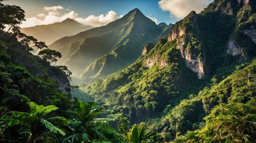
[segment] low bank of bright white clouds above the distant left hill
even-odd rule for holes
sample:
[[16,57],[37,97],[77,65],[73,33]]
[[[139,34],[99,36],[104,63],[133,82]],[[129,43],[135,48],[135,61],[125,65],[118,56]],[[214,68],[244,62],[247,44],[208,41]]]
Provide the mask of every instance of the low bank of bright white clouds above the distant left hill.
[[[106,25],[118,18],[121,18],[121,16],[118,16],[115,11],[109,11],[107,14],[101,14],[101,15],[89,15],[86,18],[79,17],[75,11],[71,11],[70,9],[64,9],[63,7],[55,6],[55,7],[44,7],[44,10],[46,10],[47,14],[38,14],[35,17],[29,17],[26,18],[26,21],[23,21],[22,24],[20,24],[20,27],[32,27],[36,25],[43,25],[43,24],[52,24],[56,22],[61,22],[67,18],[74,19],[78,21],[79,23],[90,25],[93,27],[103,26]],[[62,14],[59,13],[59,10],[62,10]]]

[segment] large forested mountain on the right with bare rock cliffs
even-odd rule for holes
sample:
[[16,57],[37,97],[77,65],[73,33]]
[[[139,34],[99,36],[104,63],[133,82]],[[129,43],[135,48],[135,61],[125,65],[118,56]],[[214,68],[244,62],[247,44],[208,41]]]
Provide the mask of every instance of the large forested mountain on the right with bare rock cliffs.
[[167,138],[198,129],[215,105],[255,97],[255,4],[216,0],[192,11],[148,54],[80,89],[131,123],[147,120]]

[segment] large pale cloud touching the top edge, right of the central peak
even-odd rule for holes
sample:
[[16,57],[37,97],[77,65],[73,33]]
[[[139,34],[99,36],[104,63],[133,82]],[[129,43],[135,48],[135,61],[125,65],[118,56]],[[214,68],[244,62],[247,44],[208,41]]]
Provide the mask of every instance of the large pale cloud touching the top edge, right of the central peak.
[[161,0],[159,7],[164,11],[170,11],[171,15],[183,18],[191,11],[199,13],[212,0]]

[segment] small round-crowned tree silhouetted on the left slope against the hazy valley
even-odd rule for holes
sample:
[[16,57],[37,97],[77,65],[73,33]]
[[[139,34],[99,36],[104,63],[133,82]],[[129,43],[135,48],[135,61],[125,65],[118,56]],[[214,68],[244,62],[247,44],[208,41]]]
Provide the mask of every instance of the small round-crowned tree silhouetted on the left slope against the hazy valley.
[[43,49],[38,52],[38,55],[43,58],[43,60],[49,61],[50,63],[56,63],[58,58],[61,58],[61,53],[52,49]]

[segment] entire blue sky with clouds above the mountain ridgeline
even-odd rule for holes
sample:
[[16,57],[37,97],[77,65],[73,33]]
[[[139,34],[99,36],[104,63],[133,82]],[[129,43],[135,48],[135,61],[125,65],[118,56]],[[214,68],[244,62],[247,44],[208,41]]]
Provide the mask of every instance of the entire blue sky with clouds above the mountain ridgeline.
[[8,0],[25,10],[26,21],[20,27],[31,27],[73,18],[79,23],[98,27],[121,18],[134,8],[155,21],[174,24],[192,10],[199,13],[213,0]]

